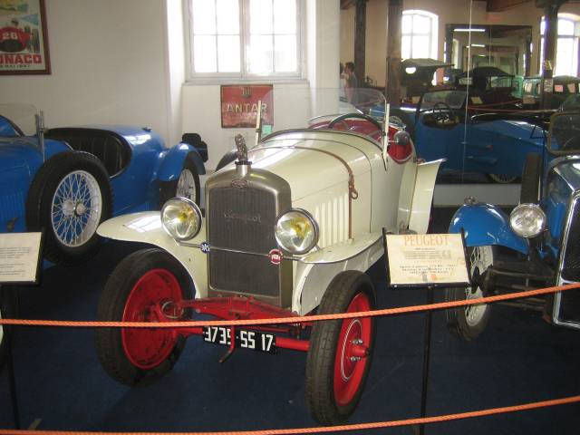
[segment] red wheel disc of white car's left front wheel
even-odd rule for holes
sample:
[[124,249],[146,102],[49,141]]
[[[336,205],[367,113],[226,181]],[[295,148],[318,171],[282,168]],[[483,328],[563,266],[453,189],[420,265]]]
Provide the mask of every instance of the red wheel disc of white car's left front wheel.
[[[156,306],[183,300],[175,275],[167,269],[153,269],[133,285],[123,311],[123,322],[160,322]],[[178,342],[169,329],[121,329],[123,350],[140,369],[150,369],[165,361]]]

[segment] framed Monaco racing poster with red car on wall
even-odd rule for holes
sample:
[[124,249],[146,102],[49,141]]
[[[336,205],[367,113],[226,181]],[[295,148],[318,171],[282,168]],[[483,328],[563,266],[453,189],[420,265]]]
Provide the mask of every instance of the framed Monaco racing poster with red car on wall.
[[0,74],[50,74],[44,0],[0,0]]

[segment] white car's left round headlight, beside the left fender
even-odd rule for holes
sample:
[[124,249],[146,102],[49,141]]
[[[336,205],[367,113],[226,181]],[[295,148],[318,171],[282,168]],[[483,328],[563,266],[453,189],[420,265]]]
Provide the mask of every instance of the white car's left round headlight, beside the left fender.
[[176,240],[189,240],[201,229],[201,210],[188,198],[169,199],[161,208],[161,224]]

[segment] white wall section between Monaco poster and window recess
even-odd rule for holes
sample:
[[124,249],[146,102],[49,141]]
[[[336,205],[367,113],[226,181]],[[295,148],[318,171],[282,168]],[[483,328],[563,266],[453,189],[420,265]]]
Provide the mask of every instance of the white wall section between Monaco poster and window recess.
[[53,73],[2,76],[1,102],[33,103],[47,126],[125,123],[169,139],[162,0],[49,0]]

